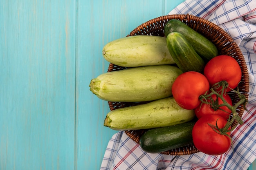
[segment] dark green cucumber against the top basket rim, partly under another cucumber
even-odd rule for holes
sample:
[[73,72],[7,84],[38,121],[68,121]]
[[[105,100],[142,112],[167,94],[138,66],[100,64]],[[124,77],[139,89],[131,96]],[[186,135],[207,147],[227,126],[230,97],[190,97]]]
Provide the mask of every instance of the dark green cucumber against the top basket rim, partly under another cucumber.
[[210,40],[180,20],[172,19],[164,25],[164,35],[167,37],[171,32],[183,34],[204,60],[211,60],[218,55],[217,47]]

